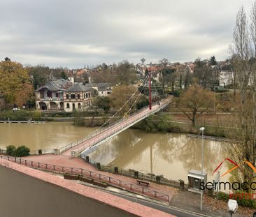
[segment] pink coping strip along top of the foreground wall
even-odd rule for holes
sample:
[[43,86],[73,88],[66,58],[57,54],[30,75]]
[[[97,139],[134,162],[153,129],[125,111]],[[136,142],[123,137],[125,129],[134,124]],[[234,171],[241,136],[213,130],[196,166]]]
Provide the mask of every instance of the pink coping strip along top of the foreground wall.
[[18,165],[17,163],[10,162],[8,160],[0,159],[1,167],[8,167],[11,170],[15,170],[16,172],[20,172],[22,174],[26,174],[29,177],[34,177],[36,179],[41,179],[42,181],[48,182],[49,184],[53,184],[55,186],[59,186],[65,188],[66,190],[71,190],[74,193],[78,193],[79,195],[83,195],[84,197],[90,197],[93,200],[98,200],[101,203],[108,204],[111,207],[115,207],[117,209],[122,209],[127,211],[130,214],[136,216],[172,216],[170,214],[166,214],[162,211],[158,211],[156,209],[152,209],[150,207],[145,207],[141,204],[137,204],[135,202],[130,202],[128,200],[122,199],[115,195],[111,195],[109,193],[101,192],[95,188],[90,188],[87,186],[83,186],[73,181],[68,181],[62,179],[60,177],[56,177],[52,174],[48,174],[42,172],[40,170],[34,170],[30,167],[25,167],[24,165]]

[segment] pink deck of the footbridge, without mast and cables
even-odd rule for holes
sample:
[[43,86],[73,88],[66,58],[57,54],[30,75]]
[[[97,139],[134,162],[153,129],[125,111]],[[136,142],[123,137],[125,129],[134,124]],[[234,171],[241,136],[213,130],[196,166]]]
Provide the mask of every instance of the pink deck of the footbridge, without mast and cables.
[[149,110],[148,107],[143,108],[138,112],[131,114],[130,117],[127,117],[122,121],[117,121],[115,124],[90,135],[89,137],[85,138],[85,140],[78,142],[74,147],[71,146],[64,150],[63,148],[60,149],[60,152],[66,156],[71,156],[73,151],[76,151],[76,154],[81,154],[82,156],[90,154],[106,140],[110,140],[111,137],[118,135],[118,133],[121,133],[123,130],[126,130],[130,126],[136,124],[138,121],[150,116],[150,114],[154,114],[155,112],[162,110],[164,107],[169,105],[170,102],[171,98],[166,98],[160,102],[160,105],[152,105],[152,110]]

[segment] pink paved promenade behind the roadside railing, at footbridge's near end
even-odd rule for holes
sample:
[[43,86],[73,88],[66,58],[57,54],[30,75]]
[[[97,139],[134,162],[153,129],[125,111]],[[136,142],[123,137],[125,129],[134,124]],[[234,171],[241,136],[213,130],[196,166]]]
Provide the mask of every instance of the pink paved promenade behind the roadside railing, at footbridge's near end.
[[[39,162],[39,163],[48,163],[48,164],[58,165],[58,166],[62,166],[62,167],[83,168],[85,170],[90,170],[90,171],[97,172],[99,174],[104,174],[108,177],[120,179],[121,181],[125,181],[129,184],[134,184],[134,186],[141,187],[140,185],[137,184],[136,179],[133,179],[131,177],[125,177],[120,174],[113,174],[113,173],[97,170],[95,167],[90,165],[90,163],[86,163],[85,160],[83,160],[82,158],[75,158],[75,157],[64,156],[64,155],[48,154],[48,155],[41,155],[41,156],[28,156],[28,157],[24,157],[22,159],[32,160],[34,162]],[[143,187],[145,187],[145,186],[143,186]],[[169,201],[171,201],[171,197],[173,196],[173,194],[176,191],[175,189],[170,188],[169,186],[158,185],[155,183],[150,183],[150,185],[148,186],[148,189],[157,190],[160,193],[165,193],[165,194],[169,195]]]

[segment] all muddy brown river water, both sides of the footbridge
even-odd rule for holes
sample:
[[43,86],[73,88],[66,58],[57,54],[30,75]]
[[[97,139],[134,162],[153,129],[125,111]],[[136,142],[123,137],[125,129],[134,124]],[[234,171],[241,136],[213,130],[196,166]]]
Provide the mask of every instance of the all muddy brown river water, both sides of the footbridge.
[[[45,124],[0,124],[0,147],[26,145],[31,150],[62,147],[92,133],[96,128],[73,126],[71,122]],[[201,139],[185,134],[145,133],[127,129],[101,144],[90,158],[104,165],[163,174],[187,182],[190,170],[201,170]],[[226,142],[204,140],[204,170],[212,181],[215,167],[227,156]],[[221,168],[221,174],[227,170]],[[228,176],[225,177],[226,181]]]

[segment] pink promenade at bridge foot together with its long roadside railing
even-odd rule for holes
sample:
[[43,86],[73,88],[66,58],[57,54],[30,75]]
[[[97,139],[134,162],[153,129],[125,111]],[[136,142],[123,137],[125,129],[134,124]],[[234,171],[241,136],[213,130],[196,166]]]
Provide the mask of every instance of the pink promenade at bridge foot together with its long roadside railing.
[[146,197],[151,197],[155,200],[169,203],[171,197],[176,189],[169,186],[162,186],[155,183],[150,183],[148,186],[143,184],[138,185],[136,179],[125,177],[120,174],[113,174],[97,170],[90,163],[85,162],[82,158],[76,158],[65,155],[41,155],[41,156],[27,156],[22,158],[14,158],[8,156],[1,156],[1,158],[26,165],[28,167],[38,168],[49,172],[64,172],[86,174],[88,177],[105,181],[109,185],[129,190],[133,193],[141,194]]

